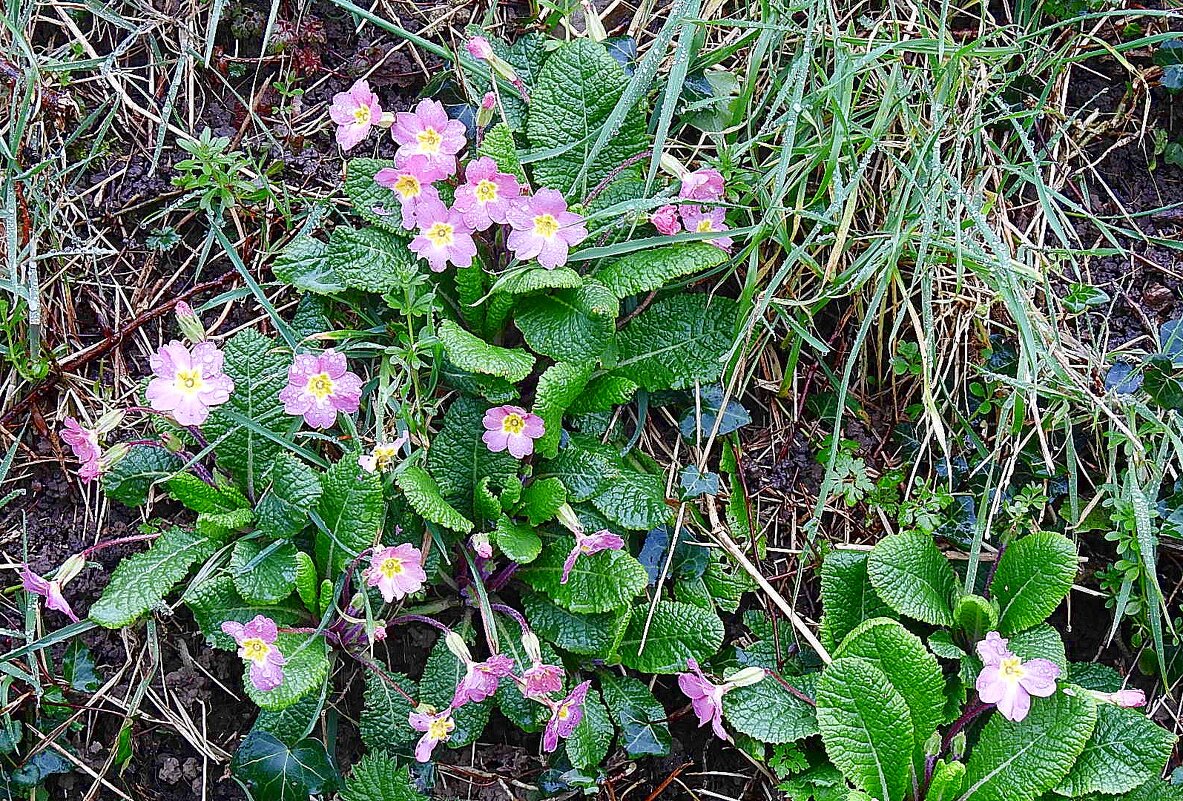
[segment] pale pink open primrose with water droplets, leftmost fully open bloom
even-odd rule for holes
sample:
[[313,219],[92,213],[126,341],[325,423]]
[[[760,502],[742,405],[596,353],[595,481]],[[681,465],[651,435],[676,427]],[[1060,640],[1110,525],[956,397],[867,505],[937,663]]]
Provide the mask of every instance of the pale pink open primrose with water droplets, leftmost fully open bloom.
[[157,412],[172,412],[182,426],[200,426],[209,409],[230,400],[234,381],[222,373],[222,355],[212,342],[193,350],[173,340],[148,358],[156,376],[144,396]]

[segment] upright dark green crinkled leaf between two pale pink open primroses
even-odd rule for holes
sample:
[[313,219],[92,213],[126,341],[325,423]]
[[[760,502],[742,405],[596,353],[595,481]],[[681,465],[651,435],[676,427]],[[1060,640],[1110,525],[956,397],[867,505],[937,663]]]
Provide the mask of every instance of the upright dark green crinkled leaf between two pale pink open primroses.
[[[273,340],[251,329],[226,342],[222,354],[226,374],[234,380],[234,392],[202,427],[206,438],[214,443],[218,466],[233,472],[252,497],[265,471],[283,453],[283,446],[264,432],[284,439],[291,426],[291,418],[279,402],[279,392],[287,386],[291,356],[274,348]],[[239,424],[235,418],[250,425]]]

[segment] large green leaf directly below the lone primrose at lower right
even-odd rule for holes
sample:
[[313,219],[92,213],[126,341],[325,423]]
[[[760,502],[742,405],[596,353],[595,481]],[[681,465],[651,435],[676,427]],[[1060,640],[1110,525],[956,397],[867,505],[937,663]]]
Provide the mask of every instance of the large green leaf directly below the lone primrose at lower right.
[[1062,780],[1097,724],[1082,695],[1033,698],[1022,721],[990,715],[965,766],[964,801],[1029,801]]

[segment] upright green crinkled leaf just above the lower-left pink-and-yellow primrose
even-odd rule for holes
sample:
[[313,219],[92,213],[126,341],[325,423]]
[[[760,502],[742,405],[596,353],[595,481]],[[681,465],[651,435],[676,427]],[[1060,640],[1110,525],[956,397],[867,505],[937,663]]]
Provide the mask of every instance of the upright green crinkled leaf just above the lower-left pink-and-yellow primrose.
[[321,477],[316,562],[322,576],[336,577],[357,554],[377,541],[382,527],[382,479],[345,456]]

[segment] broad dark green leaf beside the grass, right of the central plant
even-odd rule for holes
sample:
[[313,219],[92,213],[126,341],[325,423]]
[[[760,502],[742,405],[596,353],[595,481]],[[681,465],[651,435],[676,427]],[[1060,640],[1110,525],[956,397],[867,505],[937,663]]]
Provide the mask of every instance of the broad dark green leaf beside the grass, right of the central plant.
[[616,334],[615,373],[649,392],[716,381],[735,343],[737,309],[735,301],[705,295],[658,301]]

